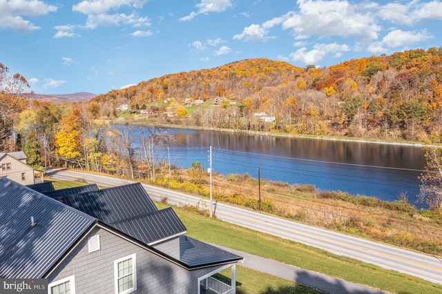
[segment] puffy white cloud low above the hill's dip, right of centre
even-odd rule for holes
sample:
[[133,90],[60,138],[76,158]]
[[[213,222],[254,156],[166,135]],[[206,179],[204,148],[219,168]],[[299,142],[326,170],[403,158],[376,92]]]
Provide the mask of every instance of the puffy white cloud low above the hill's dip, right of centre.
[[349,51],[350,48],[346,44],[339,45],[338,43],[315,44],[313,49],[307,51],[306,47],[299,48],[292,52],[289,57],[293,61],[300,61],[304,64],[318,64],[326,55],[333,54],[334,57],[339,57],[343,52]]

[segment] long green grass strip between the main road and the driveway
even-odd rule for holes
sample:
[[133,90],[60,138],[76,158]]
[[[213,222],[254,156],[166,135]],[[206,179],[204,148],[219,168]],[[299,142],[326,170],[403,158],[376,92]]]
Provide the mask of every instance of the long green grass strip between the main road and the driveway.
[[[167,205],[157,203],[157,207],[165,208]],[[174,207],[173,209],[186,226],[186,235],[204,242],[226,246],[392,293],[442,293],[442,285],[433,284],[417,277],[388,271],[378,266],[252,231],[218,219],[202,217],[198,213],[182,208]]]

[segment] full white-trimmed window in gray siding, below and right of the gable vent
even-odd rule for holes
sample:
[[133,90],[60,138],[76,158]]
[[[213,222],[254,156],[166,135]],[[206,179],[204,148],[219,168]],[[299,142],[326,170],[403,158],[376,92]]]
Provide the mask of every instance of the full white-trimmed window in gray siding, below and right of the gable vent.
[[135,254],[113,262],[115,293],[131,293],[137,290],[137,263]]

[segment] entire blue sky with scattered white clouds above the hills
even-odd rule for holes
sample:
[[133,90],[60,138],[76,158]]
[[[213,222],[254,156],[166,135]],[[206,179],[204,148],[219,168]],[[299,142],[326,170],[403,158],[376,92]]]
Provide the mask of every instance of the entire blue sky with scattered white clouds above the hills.
[[0,63],[36,93],[106,93],[265,57],[295,66],[442,46],[441,1],[0,0]]

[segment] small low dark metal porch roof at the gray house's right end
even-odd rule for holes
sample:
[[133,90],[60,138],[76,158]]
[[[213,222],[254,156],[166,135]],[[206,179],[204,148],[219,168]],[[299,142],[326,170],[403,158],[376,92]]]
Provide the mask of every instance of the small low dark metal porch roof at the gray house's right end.
[[242,259],[243,257],[239,255],[211,244],[186,235],[180,236],[180,261],[189,266],[189,268],[237,262]]

